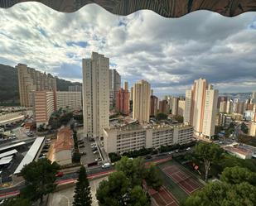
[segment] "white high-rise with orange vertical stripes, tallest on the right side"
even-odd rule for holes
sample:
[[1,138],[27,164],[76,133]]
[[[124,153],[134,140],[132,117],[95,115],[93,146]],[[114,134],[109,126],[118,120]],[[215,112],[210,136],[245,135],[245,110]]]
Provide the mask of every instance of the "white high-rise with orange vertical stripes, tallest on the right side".
[[215,135],[218,95],[218,90],[206,79],[195,80],[191,90],[186,91],[184,122],[194,127],[196,136],[210,138]]

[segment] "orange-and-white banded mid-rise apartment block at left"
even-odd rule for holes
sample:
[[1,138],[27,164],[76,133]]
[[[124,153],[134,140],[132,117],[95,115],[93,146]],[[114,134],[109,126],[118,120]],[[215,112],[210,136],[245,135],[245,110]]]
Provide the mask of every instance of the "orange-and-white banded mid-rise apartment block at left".
[[48,125],[51,114],[56,111],[55,94],[52,91],[33,92],[33,113],[36,127]]

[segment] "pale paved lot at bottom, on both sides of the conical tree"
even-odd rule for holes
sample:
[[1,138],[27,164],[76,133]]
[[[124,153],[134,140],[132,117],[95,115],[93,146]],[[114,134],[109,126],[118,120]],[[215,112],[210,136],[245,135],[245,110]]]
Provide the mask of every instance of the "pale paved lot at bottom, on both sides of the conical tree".
[[[92,194],[92,206],[98,206],[96,199],[96,189],[99,187],[99,182],[107,180],[108,177],[100,178],[98,180],[89,181],[90,191]],[[70,206],[73,203],[75,186],[68,189],[62,189],[56,193],[50,195],[48,200],[48,206]]]

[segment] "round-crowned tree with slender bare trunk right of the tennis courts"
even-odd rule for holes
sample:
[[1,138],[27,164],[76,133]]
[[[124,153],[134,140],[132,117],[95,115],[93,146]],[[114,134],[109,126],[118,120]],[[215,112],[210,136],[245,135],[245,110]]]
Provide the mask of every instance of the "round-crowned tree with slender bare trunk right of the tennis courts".
[[220,146],[214,143],[208,143],[205,141],[200,141],[195,148],[195,155],[200,159],[203,160],[205,165],[205,181],[208,181],[208,174],[210,170],[210,165],[214,161],[220,160],[223,154],[223,150]]

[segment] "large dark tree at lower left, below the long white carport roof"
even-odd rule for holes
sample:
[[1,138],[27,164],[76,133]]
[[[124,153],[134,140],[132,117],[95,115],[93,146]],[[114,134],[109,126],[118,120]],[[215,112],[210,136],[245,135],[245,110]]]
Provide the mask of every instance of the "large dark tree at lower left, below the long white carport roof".
[[56,162],[51,164],[48,159],[33,161],[22,169],[22,176],[26,182],[24,195],[28,199],[43,200],[43,196],[56,189],[56,173],[60,165]]

